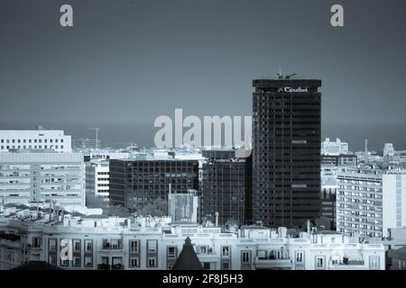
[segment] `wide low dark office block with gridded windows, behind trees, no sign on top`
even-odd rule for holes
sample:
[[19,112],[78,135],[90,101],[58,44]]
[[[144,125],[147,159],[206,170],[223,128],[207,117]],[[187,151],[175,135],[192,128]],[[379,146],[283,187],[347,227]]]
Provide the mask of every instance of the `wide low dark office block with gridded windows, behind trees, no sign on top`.
[[198,190],[196,160],[112,159],[109,168],[109,200],[130,211],[151,204],[165,214],[170,184],[171,193]]

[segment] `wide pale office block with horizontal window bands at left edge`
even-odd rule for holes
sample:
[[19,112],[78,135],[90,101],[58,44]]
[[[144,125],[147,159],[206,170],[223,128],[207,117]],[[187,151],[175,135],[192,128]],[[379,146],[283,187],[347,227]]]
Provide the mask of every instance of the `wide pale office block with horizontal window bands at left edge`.
[[0,202],[84,206],[84,178],[80,153],[0,153]]

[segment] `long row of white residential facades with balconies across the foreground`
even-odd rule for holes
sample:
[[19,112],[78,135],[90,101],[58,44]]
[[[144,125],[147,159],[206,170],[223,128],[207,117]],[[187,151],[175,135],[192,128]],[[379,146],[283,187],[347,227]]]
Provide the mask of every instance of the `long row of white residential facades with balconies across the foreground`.
[[[64,269],[171,269],[187,237],[209,270],[385,267],[381,243],[364,243],[334,231],[290,238],[285,228],[249,226],[226,232],[213,225],[173,224],[171,217],[75,217],[10,205],[0,209],[0,231],[21,235],[14,259],[46,261]],[[71,247],[66,260],[61,247]]]

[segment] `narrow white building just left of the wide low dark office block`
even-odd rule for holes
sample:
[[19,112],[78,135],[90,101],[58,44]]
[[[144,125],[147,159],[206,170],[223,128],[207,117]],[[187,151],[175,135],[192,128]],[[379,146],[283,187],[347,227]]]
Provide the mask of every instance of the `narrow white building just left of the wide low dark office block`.
[[108,201],[109,171],[106,160],[94,160],[86,164],[86,193],[88,196]]

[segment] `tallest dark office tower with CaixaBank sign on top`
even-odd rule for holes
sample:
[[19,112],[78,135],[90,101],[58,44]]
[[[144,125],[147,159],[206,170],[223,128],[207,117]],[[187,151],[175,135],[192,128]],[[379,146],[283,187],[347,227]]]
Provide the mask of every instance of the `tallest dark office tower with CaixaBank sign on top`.
[[320,80],[253,81],[253,218],[297,227],[319,215]]

